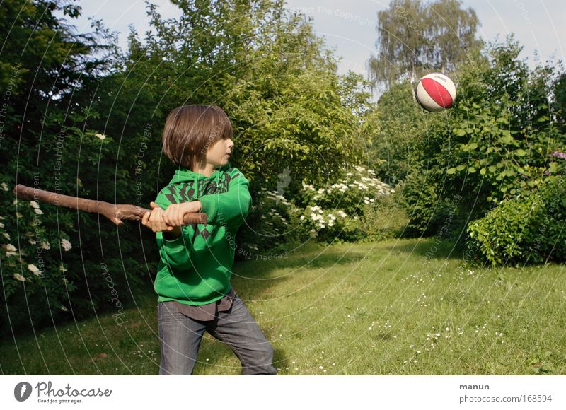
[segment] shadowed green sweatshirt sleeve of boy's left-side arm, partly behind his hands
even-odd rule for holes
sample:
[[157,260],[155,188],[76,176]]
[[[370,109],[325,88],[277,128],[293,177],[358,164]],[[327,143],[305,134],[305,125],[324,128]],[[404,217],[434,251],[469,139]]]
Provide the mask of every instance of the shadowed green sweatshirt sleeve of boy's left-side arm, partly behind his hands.
[[[162,194],[156,199],[156,204],[162,209],[167,209],[171,202]],[[169,266],[171,271],[187,270],[192,268],[190,255],[194,254],[192,238],[190,238],[190,226],[183,226],[181,234],[174,240],[163,238],[163,232],[156,232],[157,246],[163,264]]]

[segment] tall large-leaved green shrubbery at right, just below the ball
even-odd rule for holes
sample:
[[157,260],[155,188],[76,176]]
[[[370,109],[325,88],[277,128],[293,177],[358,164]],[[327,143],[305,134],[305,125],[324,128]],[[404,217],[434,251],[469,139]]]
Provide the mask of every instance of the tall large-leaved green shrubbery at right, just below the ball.
[[489,61],[470,55],[461,67],[454,107],[427,113],[431,119],[422,123],[415,141],[420,158],[404,192],[409,226],[417,234],[437,231],[446,199],[463,197],[455,215],[466,223],[535,191],[558,172],[559,158],[550,153],[564,151],[566,136],[548,110],[554,70],[529,69],[512,39],[489,52]]

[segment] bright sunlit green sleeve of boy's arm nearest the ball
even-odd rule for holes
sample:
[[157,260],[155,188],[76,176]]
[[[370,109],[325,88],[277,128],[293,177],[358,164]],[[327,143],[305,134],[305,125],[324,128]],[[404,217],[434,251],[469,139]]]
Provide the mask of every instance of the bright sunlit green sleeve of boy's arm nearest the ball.
[[235,229],[246,221],[252,206],[249,187],[250,182],[239,173],[230,180],[228,192],[200,197],[201,212],[207,214],[207,224],[225,224]]

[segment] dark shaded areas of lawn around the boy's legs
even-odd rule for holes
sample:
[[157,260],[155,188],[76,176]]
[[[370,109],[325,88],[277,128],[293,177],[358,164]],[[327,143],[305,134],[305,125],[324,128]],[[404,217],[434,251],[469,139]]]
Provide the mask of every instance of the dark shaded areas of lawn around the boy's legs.
[[[276,256],[274,254],[273,256]],[[243,300],[261,300],[265,293],[279,286],[283,281],[292,279],[292,275],[279,277],[280,269],[325,269],[337,264],[352,264],[366,256],[366,252],[337,249],[311,243],[296,252],[279,254],[281,257],[262,255],[236,262],[233,266],[232,283]],[[264,258],[265,256],[265,258]],[[148,347],[158,353],[157,295],[149,279],[143,291],[135,295],[134,300],[125,303],[124,314],[127,322],[117,326],[112,313],[96,310],[96,317],[82,319],[74,324],[51,324],[35,327],[35,334],[18,334],[16,341],[11,337],[0,344],[4,356],[0,365],[2,374],[154,374],[158,372],[159,356],[139,357],[138,350]],[[260,317],[255,317],[260,320]],[[83,324],[86,326],[83,327]],[[70,325],[70,326],[69,326]],[[267,340],[275,333],[270,327],[263,326]],[[72,331],[72,334],[71,334]],[[79,332],[77,332],[79,331]],[[59,340],[61,338],[61,340]],[[39,344],[39,346],[38,346]],[[105,347],[102,347],[102,345]],[[110,348],[112,346],[112,348]],[[20,357],[20,355],[22,355]],[[108,355],[108,356],[98,356]],[[274,365],[277,368],[289,366],[285,351],[276,349]],[[199,361],[210,358],[212,365],[231,367],[230,373],[240,374],[236,370],[239,361],[225,344],[209,343],[202,345]],[[9,359],[9,360],[8,360]],[[122,361],[127,364],[125,366]],[[130,368],[130,364],[134,368]],[[226,370],[228,371],[228,370]]]

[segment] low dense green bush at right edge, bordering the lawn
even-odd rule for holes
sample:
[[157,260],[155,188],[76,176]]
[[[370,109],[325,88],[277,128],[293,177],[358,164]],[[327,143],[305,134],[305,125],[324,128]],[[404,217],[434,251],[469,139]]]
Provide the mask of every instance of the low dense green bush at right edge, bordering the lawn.
[[468,252],[492,264],[566,262],[566,174],[468,225]]

